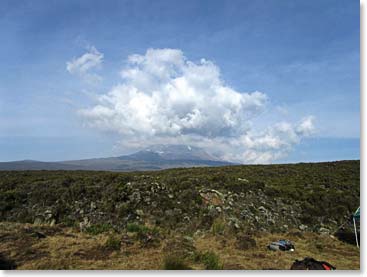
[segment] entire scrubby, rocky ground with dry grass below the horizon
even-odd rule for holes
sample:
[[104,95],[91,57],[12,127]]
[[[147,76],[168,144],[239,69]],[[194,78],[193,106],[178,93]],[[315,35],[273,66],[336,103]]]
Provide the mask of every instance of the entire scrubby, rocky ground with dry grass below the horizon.
[[[312,255],[357,269],[358,249],[331,235],[358,206],[359,161],[3,171],[0,259],[17,268],[157,269],[170,264],[167,249],[188,241],[190,253],[173,257],[190,268],[286,269]],[[295,254],[266,251],[281,238],[296,240]]]

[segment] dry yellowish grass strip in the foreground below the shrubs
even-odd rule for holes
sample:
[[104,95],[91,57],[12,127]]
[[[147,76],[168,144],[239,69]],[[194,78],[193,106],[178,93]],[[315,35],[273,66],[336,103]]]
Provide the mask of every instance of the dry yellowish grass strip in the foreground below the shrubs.
[[[340,269],[359,269],[359,249],[314,233],[303,238],[292,233],[257,233],[255,248],[243,251],[236,248],[235,237],[207,234],[194,237],[194,245],[201,255],[199,261],[167,260],[162,245],[142,248],[138,242],[114,251],[105,246],[110,235],[90,236],[72,228],[42,227],[35,229],[46,234],[37,239],[25,230],[30,224],[0,223],[0,252],[17,269],[162,269],[185,266],[192,269],[289,269],[295,259],[313,257],[325,260]],[[41,228],[41,227],[37,227]],[[268,243],[287,238],[295,243],[295,252],[266,250]],[[116,245],[115,242],[112,243]],[[129,255],[126,255],[129,252]],[[28,254],[26,254],[28,253]],[[208,254],[215,253],[215,254]],[[181,264],[181,265],[180,265]],[[219,265],[219,267],[217,267]],[[222,267],[223,266],[223,267]]]

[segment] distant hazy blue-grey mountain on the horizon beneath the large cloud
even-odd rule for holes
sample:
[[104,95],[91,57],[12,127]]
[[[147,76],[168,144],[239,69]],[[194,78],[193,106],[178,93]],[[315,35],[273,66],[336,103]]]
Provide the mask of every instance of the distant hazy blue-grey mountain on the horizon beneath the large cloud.
[[60,162],[33,160],[0,162],[0,170],[136,171],[231,164],[210,155],[201,148],[190,145],[153,145],[131,155],[119,157]]

